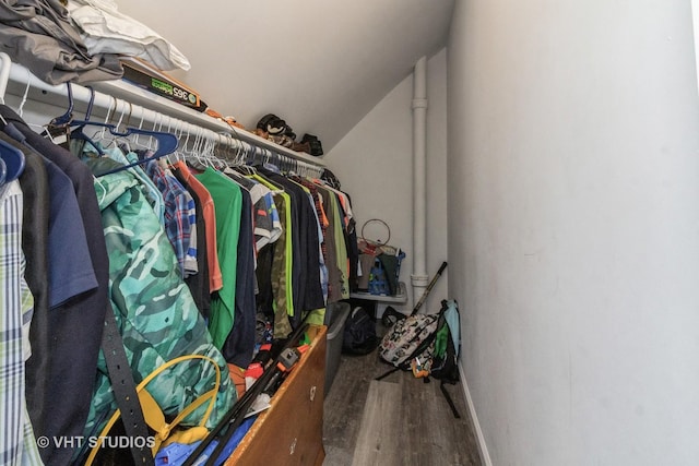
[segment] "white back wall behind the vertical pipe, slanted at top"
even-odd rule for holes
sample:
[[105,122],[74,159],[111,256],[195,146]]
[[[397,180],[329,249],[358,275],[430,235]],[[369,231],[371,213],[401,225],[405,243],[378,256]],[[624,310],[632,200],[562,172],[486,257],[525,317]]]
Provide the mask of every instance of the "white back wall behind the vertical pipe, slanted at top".
[[[427,61],[427,273],[433,275],[447,260],[447,77],[446,50]],[[352,195],[362,228],[380,218],[391,228],[391,244],[406,259],[401,280],[408,286],[413,272],[412,110],[413,77],[408,75],[325,156],[328,167]],[[339,109],[337,111],[342,111]],[[376,234],[381,234],[379,229]],[[367,236],[371,230],[367,227]],[[376,237],[375,237],[376,238]],[[447,274],[433,289],[422,311],[436,311],[449,298]],[[412,299],[399,309],[411,310]]]

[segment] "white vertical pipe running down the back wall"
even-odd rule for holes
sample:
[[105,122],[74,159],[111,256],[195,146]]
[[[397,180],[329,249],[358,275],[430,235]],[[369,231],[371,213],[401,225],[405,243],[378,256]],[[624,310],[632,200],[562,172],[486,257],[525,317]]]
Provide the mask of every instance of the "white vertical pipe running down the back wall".
[[427,127],[427,58],[422,57],[413,70],[413,302],[427,288],[426,272],[426,127]]

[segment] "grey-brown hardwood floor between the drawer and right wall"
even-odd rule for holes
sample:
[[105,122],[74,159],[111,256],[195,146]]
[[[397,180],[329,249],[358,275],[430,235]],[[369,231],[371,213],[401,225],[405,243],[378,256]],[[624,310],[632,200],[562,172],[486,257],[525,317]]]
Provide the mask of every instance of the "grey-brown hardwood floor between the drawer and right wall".
[[424,383],[403,371],[374,380],[390,368],[376,350],[342,355],[323,405],[323,465],[481,466],[461,384],[446,385],[461,415],[455,419],[437,380]]

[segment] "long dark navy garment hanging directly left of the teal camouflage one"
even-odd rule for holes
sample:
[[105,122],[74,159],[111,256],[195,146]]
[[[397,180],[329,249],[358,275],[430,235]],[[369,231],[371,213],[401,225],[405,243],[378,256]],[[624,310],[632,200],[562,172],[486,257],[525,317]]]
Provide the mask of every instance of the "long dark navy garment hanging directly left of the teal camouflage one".
[[[93,268],[97,287],[49,310],[50,350],[44,350],[50,355],[50,363],[43,377],[50,397],[44,399],[43,406],[29,408],[42,413],[37,435],[80,437],[90,410],[105,312],[111,312],[107,299],[107,249],[93,176],[70,152],[35,133],[10,107],[0,106],[0,115],[10,123],[0,122],[5,133],[55,163],[71,179],[83,220],[90,260],[78,265]],[[44,462],[51,465],[70,463],[74,453],[73,445],[57,447],[54,443],[40,450]]]

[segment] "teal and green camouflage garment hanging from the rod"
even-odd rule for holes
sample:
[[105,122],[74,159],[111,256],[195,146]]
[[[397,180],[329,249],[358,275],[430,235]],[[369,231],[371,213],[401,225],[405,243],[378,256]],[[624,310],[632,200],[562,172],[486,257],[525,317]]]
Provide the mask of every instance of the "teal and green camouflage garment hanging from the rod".
[[[115,163],[105,157],[88,160],[87,165],[97,176],[115,167]],[[206,423],[211,428],[233,405],[234,389],[226,362],[213,346],[177,271],[174,251],[146,201],[144,188],[132,174],[123,170],[96,178],[95,190],[109,252],[110,298],[134,379],[144,379],[178,356],[212,358],[225,375]],[[98,435],[105,415],[116,408],[102,356],[97,373],[85,437]],[[211,390],[214,380],[211,365],[194,361],[173,367],[149,384],[147,390],[164,414],[174,416]],[[188,416],[182,425],[196,425],[203,410],[205,406]]]

